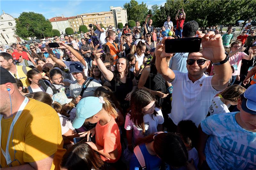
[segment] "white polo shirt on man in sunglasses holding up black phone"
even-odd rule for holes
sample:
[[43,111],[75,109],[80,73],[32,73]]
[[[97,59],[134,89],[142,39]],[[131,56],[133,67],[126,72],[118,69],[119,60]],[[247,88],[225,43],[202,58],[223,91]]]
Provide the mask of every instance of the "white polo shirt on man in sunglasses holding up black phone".
[[173,72],[172,111],[168,115],[176,125],[181,120],[192,120],[198,126],[205,119],[212,98],[219,91],[212,87],[212,76],[204,74],[193,83],[188,78],[188,73],[176,70]]

